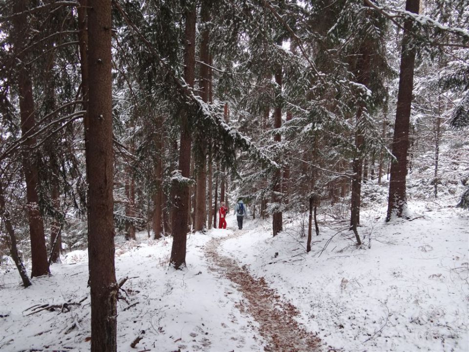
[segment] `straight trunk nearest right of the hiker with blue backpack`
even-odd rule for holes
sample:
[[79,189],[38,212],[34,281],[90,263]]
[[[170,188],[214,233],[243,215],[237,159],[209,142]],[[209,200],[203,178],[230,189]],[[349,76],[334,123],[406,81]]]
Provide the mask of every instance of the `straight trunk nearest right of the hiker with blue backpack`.
[[[282,107],[281,107],[281,99],[280,95],[282,94],[282,67],[277,69],[275,73],[275,83],[277,83],[277,106],[274,112],[274,129],[279,131],[282,127]],[[277,132],[274,136],[274,141],[280,143],[282,140],[280,132]],[[282,211],[281,211],[281,202],[282,202],[282,178],[281,178],[281,170],[277,169],[274,173],[274,187],[272,189],[272,202],[275,204],[274,211],[272,213],[272,230],[274,236],[277,236],[277,233],[282,231],[283,229],[283,219],[282,219]]]

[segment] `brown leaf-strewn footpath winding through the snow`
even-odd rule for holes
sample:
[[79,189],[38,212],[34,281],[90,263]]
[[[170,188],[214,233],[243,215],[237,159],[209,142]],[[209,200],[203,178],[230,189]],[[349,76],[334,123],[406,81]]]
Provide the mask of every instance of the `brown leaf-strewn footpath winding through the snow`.
[[205,247],[210,268],[217,271],[238,285],[238,290],[246,298],[246,303],[239,303],[240,311],[247,311],[259,324],[259,333],[267,341],[266,352],[317,351],[320,339],[305,330],[294,317],[298,309],[288,302],[280,300],[277,292],[269,288],[264,278],[253,278],[247,268],[240,267],[232,258],[218,254],[221,243],[240,236],[242,233],[213,238]]

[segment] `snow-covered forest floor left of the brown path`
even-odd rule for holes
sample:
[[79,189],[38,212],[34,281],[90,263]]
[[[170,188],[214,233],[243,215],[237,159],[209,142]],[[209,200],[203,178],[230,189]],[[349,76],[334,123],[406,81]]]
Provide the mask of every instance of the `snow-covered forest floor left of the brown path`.
[[[241,294],[228,279],[208,270],[202,247],[214,236],[191,235],[184,270],[168,269],[171,239],[116,245],[116,277],[129,277],[118,301],[119,351],[259,351],[262,339],[256,323],[235,305]],[[231,232],[230,232],[231,233]],[[23,289],[14,267],[1,274],[0,350],[89,351],[90,306],[87,252],[74,251],[63,264],[51,266],[52,275],[33,279]],[[78,303],[70,311],[43,310],[35,305]],[[39,307],[39,306],[37,306]],[[36,307],[36,308],[37,308]],[[144,332],[142,332],[144,331]],[[130,344],[143,339],[136,349]]]

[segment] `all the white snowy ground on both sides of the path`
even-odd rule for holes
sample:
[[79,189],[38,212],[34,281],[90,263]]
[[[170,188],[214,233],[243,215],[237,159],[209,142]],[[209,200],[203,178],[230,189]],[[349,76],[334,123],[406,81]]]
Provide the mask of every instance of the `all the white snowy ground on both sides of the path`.
[[[432,201],[409,207],[411,221],[390,223],[385,208],[364,210],[361,249],[340,231],[346,221],[321,215],[308,254],[300,219],[284,219],[272,238],[269,220],[247,220],[239,231],[229,217],[229,229],[189,237],[188,267],[179,271],[168,268],[170,238],[118,239],[117,280],[128,277],[118,301],[118,349],[263,351],[268,341],[243,309],[249,302],[213,270],[205,249],[212,238],[233,236],[220,241],[218,253],[298,308],[295,318],[320,338],[319,350],[469,351],[469,213]],[[14,266],[1,267],[1,351],[89,350],[87,252],[62,260],[27,289]]]

